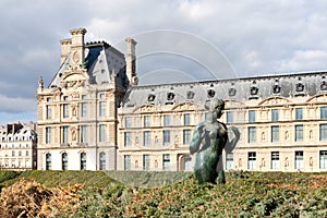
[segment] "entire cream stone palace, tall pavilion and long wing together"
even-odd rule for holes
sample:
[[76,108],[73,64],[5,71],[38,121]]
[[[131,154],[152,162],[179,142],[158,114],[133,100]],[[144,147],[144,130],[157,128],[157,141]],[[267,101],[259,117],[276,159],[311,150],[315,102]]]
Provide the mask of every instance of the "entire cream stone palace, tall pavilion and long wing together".
[[222,98],[221,121],[241,133],[227,170],[327,171],[327,72],[144,86],[136,41],[123,55],[85,33],[61,40],[59,71],[39,81],[38,169],[192,170],[193,129]]

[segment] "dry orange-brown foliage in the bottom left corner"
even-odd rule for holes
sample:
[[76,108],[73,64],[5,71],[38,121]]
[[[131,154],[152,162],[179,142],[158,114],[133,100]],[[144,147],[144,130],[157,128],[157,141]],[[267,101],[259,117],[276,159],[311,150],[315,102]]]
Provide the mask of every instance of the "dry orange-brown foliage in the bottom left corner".
[[21,180],[2,190],[0,217],[56,217],[73,214],[78,208],[80,184],[48,189],[35,182]]

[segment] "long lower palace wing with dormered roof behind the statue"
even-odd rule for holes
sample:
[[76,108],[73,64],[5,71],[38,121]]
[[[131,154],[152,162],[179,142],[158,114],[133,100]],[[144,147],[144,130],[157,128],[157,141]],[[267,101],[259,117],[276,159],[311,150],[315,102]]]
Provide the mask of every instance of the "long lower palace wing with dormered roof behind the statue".
[[327,171],[326,74],[132,87],[118,111],[118,169],[191,170],[193,128],[205,118],[205,101],[217,97],[226,101],[221,121],[241,132],[223,155],[226,169]]

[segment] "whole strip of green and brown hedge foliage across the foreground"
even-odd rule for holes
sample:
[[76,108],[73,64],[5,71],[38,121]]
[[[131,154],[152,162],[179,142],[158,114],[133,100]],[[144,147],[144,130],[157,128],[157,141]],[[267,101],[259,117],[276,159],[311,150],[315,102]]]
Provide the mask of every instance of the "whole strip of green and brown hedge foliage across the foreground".
[[[125,177],[124,173],[120,177]],[[133,184],[136,184],[135,180],[144,183],[146,178],[145,184],[157,184],[150,180],[160,178],[160,172],[146,172],[138,179],[134,172],[129,173],[129,180],[135,177],[130,184],[108,179],[110,172],[23,172],[9,180],[15,182],[2,190],[0,216],[327,217],[326,173],[235,171],[227,173],[226,184],[217,185],[197,185],[186,173],[178,183],[154,187]],[[161,173],[161,178],[167,177],[182,175]],[[101,179],[106,182],[97,183]],[[84,185],[74,184],[78,181]],[[31,207],[26,208],[26,205]]]

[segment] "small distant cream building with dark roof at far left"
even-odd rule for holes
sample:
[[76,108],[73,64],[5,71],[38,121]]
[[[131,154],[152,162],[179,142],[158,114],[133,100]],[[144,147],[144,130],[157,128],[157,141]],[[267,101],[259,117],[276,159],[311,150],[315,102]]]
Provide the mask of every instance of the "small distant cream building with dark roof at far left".
[[13,123],[0,128],[0,169],[36,169],[36,125]]

